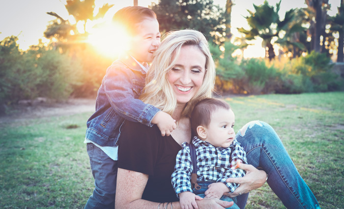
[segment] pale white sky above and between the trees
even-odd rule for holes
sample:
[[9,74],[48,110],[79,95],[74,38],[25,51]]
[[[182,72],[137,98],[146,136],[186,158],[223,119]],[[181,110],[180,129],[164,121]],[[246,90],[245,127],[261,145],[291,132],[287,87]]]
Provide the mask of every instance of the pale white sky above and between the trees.
[[[157,1],[138,0],[140,6],[148,6],[151,2]],[[276,5],[278,1],[268,0],[270,5]],[[260,5],[264,0],[233,0],[233,2],[235,5],[232,7],[231,26],[235,35],[236,28],[244,27],[249,29],[244,18],[249,14],[247,9],[254,11],[253,3]],[[62,18],[68,19],[68,12],[64,7],[64,3],[65,0],[2,0],[0,3],[0,40],[10,35],[16,35],[19,38],[17,42],[19,48],[23,50],[27,50],[30,45],[38,44],[38,40],[43,37],[43,32],[49,25],[49,21],[55,19],[46,12],[53,11]],[[133,5],[133,0],[95,0],[95,9],[101,7],[104,3],[115,4],[109,10],[108,16],[106,16],[106,18],[111,19],[118,9]],[[214,0],[214,3],[225,7],[226,0]],[[331,4],[331,11],[328,14],[333,16],[337,13],[340,0],[329,0],[329,3]],[[284,17],[285,12],[291,8],[301,7],[307,7],[304,0],[282,0],[280,16]],[[255,56],[253,55],[253,57]]]

